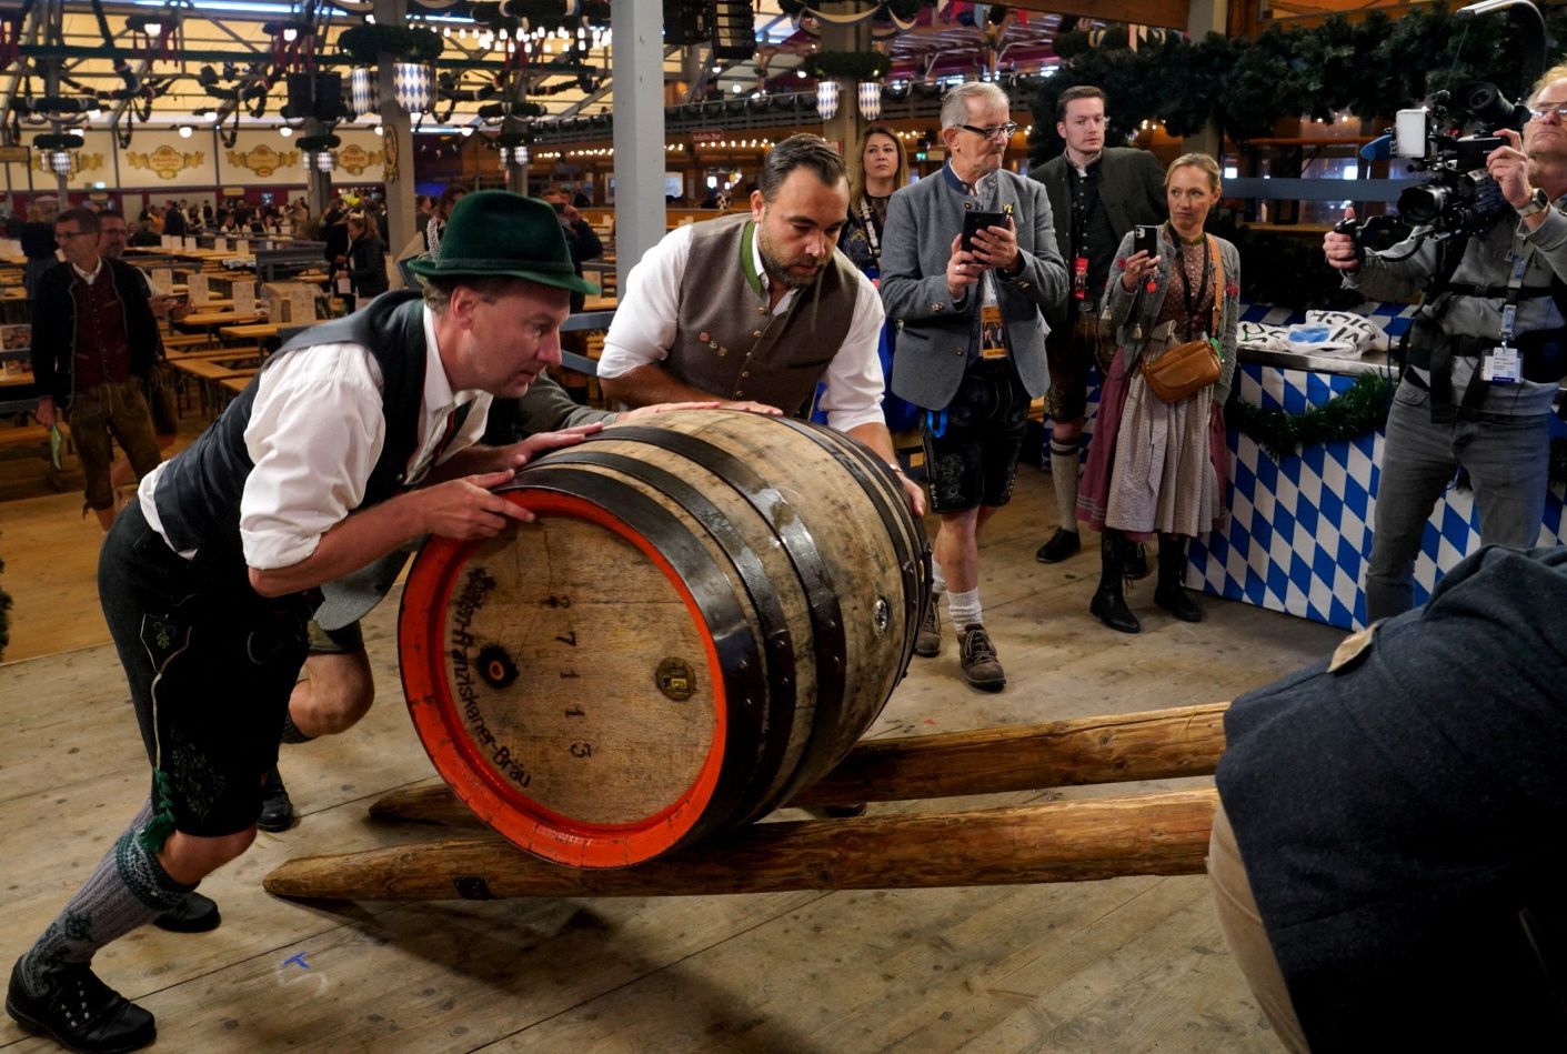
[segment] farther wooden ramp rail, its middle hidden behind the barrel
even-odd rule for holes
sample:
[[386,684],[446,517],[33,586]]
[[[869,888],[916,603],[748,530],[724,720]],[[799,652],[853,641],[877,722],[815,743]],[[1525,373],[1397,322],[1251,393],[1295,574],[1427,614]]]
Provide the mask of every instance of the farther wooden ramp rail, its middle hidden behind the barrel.
[[[898,802],[1208,775],[1224,753],[1229,703],[1042,725],[868,739],[790,805]],[[443,783],[392,791],[381,821],[483,825]]]

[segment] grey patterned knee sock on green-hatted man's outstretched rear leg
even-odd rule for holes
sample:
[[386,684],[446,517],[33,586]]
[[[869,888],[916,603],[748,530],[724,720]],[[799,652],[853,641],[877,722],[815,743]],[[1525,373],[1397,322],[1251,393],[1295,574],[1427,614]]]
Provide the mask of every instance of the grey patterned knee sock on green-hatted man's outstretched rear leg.
[[86,885],[22,957],[30,987],[39,987],[44,976],[63,965],[91,963],[100,948],[179,907],[196,888],[171,879],[157,850],[139,838],[150,818],[152,808],[144,805]]

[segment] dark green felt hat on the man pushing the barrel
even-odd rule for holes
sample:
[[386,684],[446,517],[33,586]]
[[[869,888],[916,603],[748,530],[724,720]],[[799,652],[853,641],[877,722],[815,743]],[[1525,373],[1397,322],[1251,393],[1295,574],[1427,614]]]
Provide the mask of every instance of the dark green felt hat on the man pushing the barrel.
[[506,276],[575,293],[599,291],[577,277],[555,208],[511,191],[464,196],[440,235],[439,255],[409,260],[407,269],[426,279]]

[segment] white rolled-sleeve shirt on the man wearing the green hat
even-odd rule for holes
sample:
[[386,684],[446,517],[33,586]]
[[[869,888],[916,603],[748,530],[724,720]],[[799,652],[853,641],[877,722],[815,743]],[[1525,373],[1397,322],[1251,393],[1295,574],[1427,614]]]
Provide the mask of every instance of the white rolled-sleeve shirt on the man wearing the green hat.
[[[440,460],[478,442],[490,404],[489,393],[451,390],[429,312],[425,312],[425,396],[418,445],[409,459],[409,485],[429,473],[450,413],[473,402]],[[384,445],[381,368],[368,348],[315,345],[290,351],[262,370],[244,429],[244,446],[255,465],[240,500],[244,562],[274,570],[315,553],[321,536],[364,501]],[[138,489],[143,515],[160,534],[163,523],[154,492],[163,465],[147,473]]]

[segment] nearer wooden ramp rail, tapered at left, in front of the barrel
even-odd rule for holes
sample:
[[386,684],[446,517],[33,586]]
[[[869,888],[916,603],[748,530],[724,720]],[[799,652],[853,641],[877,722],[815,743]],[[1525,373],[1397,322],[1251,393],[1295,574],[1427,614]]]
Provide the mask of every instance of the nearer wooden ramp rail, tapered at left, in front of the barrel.
[[754,824],[621,869],[577,869],[501,838],[304,857],[262,885],[285,897],[487,901],[517,896],[710,896],[918,890],[1200,874],[1213,789],[970,813]]

